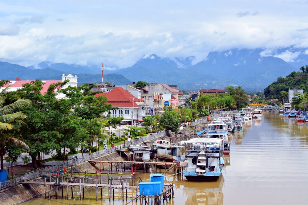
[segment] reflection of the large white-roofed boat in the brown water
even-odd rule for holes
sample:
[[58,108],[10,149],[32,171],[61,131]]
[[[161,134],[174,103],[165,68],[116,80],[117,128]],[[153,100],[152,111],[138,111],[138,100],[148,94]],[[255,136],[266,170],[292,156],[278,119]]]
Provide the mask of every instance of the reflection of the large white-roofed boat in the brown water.
[[221,176],[217,182],[189,182],[186,181],[183,187],[183,195],[187,196],[185,204],[221,205],[224,201],[222,187],[224,177]]

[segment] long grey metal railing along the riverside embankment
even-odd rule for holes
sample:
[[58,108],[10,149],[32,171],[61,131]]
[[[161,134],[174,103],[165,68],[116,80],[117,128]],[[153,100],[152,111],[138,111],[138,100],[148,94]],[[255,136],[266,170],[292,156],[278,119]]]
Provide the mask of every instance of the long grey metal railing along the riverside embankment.
[[[136,140],[125,142],[125,144],[131,145],[131,144],[142,143],[144,141],[152,140],[152,139],[155,139],[156,137],[160,137],[162,135],[165,135],[166,133],[167,133],[166,131],[157,132],[157,133],[152,134],[152,135],[147,135],[147,136],[144,136],[144,137],[140,137],[139,139],[136,139]],[[93,152],[93,153],[88,154],[88,155],[83,155],[81,157],[74,158],[72,160],[67,160],[65,162],[59,162],[59,164],[56,164],[56,165],[53,165],[53,166],[49,166],[49,167],[39,169],[39,170],[36,170],[36,171],[31,171],[31,172],[25,173],[22,176],[18,176],[18,177],[14,177],[12,179],[0,181],[0,190],[15,186],[15,185],[22,183],[24,181],[28,181],[28,180],[40,177],[42,173],[58,171],[59,168],[61,168],[61,169],[65,168],[65,167],[69,168],[72,165],[87,162],[87,161],[93,160],[97,157],[110,154],[112,152],[115,152],[116,148],[120,148],[120,146],[121,145],[117,145],[115,147],[104,149],[104,150],[101,150],[99,152]]]

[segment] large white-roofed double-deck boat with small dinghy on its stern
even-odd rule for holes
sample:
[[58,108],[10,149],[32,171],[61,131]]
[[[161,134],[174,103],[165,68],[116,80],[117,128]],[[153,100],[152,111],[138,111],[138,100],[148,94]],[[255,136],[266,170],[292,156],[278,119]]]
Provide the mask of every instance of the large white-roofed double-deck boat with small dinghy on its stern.
[[185,152],[188,165],[184,167],[184,177],[188,181],[217,181],[225,166],[223,139],[202,137],[186,143],[190,146]]

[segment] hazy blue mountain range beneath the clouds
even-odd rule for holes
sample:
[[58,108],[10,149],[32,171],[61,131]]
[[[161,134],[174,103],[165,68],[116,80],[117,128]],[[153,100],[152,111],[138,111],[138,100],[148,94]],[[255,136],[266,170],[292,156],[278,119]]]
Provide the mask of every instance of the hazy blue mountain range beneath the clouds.
[[[263,92],[264,88],[286,77],[293,71],[300,71],[308,64],[306,49],[285,48],[276,52],[298,53],[291,62],[279,57],[264,56],[264,49],[232,49],[225,52],[210,52],[205,60],[193,65],[193,56],[186,58],[162,58],[155,54],[145,55],[134,65],[114,71],[104,71],[104,82],[112,84],[132,84],[145,81],[178,85],[179,89],[223,89],[226,86],[242,86],[247,92]],[[279,56],[279,55],[275,55]],[[75,65],[41,62],[24,67],[8,62],[0,62],[0,79],[14,80],[60,80],[62,74],[77,75],[78,84],[101,82],[101,70],[97,65]]]

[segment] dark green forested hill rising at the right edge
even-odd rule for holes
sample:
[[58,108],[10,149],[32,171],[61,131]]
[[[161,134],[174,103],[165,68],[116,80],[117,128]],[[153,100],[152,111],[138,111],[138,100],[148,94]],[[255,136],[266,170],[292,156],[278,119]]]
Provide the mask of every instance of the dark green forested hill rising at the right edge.
[[299,88],[304,93],[308,93],[308,66],[306,65],[306,69],[302,68],[302,72],[293,71],[286,78],[278,77],[276,81],[267,86],[264,89],[265,99],[279,99],[280,102],[286,102],[289,88]]

